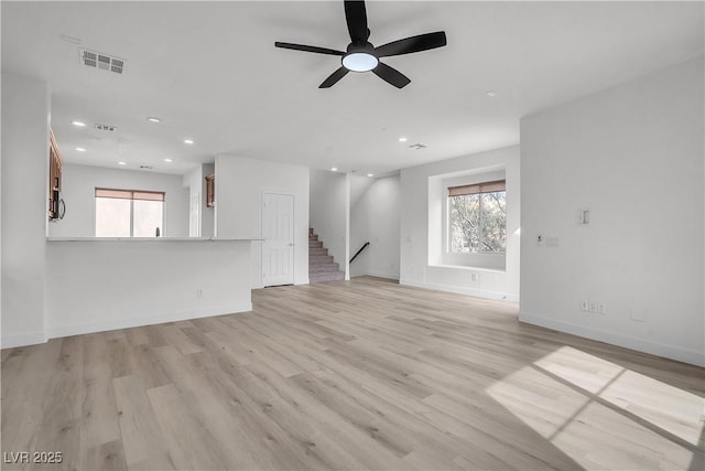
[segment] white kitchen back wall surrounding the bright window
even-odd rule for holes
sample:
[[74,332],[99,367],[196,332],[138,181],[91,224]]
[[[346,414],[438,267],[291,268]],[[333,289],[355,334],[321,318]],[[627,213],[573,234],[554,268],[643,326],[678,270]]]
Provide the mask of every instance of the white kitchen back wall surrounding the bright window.
[[162,191],[164,237],[188,236],[188,189],[181,175],[104,167],[62,165],[62,197],[66,215],[48,225],[52,237],[95,237],[96,188]]

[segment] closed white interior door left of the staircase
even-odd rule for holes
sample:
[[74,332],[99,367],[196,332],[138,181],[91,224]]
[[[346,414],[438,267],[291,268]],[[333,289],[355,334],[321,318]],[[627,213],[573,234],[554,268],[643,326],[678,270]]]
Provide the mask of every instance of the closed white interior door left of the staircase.
[[264,193],[262,201],[262,282],[294,282],[294,196]]

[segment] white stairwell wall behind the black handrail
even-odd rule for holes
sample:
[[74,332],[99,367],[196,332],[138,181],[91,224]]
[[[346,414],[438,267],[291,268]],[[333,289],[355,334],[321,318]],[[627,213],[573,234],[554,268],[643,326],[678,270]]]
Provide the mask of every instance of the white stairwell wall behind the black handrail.
[[356,179],[369,182],[350,210],[350,257],[370,245],[350,264],[350,275],[399,279],[400,178]]

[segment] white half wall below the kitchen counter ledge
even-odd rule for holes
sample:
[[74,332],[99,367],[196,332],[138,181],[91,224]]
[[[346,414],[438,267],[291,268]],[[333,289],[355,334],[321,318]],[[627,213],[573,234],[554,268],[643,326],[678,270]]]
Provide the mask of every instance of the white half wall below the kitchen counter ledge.
[[250,244],[50,242],[47,336],[250,311]]

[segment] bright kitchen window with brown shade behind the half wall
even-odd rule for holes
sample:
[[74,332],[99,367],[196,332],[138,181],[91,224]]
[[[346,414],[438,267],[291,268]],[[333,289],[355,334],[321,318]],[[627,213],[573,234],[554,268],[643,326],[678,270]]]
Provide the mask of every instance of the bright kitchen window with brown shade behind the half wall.
[[156,237],[164,225],[164,193],[96,189],[96,237]]

